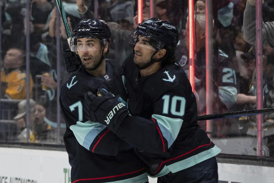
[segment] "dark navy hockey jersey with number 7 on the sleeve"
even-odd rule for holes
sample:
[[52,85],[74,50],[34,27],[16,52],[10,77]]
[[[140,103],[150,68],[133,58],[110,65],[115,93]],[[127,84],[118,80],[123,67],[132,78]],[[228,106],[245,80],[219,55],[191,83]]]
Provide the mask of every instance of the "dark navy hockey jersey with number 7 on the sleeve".
[[134,149],[106,126],[89,121],[83,112],[84,92],[97,93],[98,88],[111,91],[124,102],[122,67],[106,60],[106,74],[93,77],[84,67],[63,85],[60,106],[67,129],[64,142],[71,168],[71,182],[136,182],[148,181],[145,164]]

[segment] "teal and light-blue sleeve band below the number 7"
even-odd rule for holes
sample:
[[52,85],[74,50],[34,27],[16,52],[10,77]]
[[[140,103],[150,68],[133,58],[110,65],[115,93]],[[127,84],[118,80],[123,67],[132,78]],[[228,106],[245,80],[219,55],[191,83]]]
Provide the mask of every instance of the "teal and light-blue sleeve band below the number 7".
[[72,130],[76,140],[87,150],[89,150],[90,144],[95,137],[104,130],[104,128],[106,128],[105,125],[91,121],[84,123],[77,121],[75,125],[70,126],[70,130]]

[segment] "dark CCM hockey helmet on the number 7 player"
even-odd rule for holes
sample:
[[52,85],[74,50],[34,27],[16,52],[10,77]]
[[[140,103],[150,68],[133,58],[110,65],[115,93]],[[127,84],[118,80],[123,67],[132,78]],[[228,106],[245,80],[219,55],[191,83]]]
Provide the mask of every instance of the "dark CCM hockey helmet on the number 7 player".
[[108,42],[109,48],[111,32],[106,22],[102,19],[82,19],[73,30],[73,35],[70,39],[71,51],[77,51],[77,39],[79,38],[97,38],[103,47],[106,47],[106,42]]

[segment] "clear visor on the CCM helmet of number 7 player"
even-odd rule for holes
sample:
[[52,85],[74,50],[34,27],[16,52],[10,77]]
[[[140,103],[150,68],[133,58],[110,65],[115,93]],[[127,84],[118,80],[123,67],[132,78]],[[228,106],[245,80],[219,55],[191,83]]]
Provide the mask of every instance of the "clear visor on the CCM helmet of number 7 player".
[[106,47],[106,39],[102,39],[102,41],[104,46],[102,46],[98,38],[72,37],[70,39],[70,50],[73,52],[102,50]]

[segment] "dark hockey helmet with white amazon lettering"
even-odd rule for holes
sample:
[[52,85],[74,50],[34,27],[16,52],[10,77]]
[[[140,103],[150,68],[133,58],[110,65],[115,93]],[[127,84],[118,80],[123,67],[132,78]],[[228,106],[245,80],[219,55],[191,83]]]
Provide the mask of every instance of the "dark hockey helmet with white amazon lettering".
[[156,41],[152,46],[159,51],[166,46],[176,47],[179,40],[177,27],[169,21],[158,18],[149,18],[138,24],[136,30],[130,35],[130,43],[136,44],[139,35],[149,37]]

